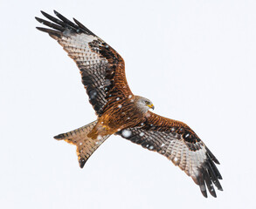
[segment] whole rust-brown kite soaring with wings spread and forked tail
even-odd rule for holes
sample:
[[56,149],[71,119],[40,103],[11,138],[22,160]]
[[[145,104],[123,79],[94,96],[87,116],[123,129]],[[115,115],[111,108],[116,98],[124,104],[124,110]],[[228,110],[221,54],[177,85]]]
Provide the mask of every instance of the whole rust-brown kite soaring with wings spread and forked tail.
[[122,57],[86,26],[75,18],[73,23],[55,10],[57,18],[41,12],[48,20],[36,19],[52,29],[37,29],[57,40],[73,58],[97,115],[92,123],[54,137],[77,146],[80,167],[115,134],[162,154],[199,185],[205,198],[207,189],[217,197],[213,185],[223,190],[219,183],[222,177],[215,165],[219,162],[197,134],[183,122],[149,111],[154,110],[152,102],[130,90]]

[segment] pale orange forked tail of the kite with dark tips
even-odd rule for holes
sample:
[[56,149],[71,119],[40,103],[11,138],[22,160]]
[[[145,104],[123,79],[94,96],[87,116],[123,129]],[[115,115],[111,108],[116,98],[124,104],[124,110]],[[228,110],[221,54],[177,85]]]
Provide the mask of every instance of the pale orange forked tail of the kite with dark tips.
[[73,131],[61,133],[54,137],[57,140],[65,140],[67,143],[77,146],[80,168],[84,167],[87,159],[90,158],[93,152],[109,137],[109,135],[107,135],[97,139],[88,138],[87,134],[93,130],[96,124],[97,120],[93,121],[91,124],[82,126]]

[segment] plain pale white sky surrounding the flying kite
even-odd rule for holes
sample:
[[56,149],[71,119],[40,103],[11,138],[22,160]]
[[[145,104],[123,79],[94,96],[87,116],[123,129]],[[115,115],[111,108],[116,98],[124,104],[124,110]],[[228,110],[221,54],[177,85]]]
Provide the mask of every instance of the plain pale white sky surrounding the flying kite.
[[[73,60],[35,29],[39,10],[80,20],[125,59],[135,94],[197,132],[221,163],[217,199],[120,137],[80,169],[52,137],[96,116]],[[1,208],[256,208],[256,1],[0,0],[0,11]]]

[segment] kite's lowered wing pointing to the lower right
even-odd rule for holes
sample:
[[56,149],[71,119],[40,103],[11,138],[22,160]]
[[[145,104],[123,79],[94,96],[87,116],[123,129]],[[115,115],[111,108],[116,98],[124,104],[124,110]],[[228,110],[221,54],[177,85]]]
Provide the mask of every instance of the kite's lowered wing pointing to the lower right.
[[215,165],[219,164],[218,159],[197,134],[182,122],[150,111],[146,116],[143,123],[116,134],[169,158],[200,186],[204,197],[207,198],[205,183],[211,195],[216,197],[213,184],[222,191],[218,181],[222,177]]

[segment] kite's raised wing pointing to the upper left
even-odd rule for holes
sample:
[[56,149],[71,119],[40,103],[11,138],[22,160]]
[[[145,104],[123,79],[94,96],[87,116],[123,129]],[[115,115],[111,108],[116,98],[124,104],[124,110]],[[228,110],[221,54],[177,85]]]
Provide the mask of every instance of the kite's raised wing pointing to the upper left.
[[37,29],[57,40],[78,65],[89,101],[98,116],[115,98],[132,95],[125,77],[124,61],[111,46],[76,19],[73,19],[74,24],[55,10],[59,19],[41,12],[51,22],[38,17],[36,19],[53,30]]

